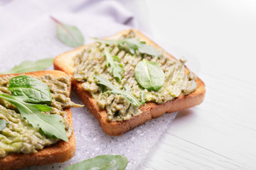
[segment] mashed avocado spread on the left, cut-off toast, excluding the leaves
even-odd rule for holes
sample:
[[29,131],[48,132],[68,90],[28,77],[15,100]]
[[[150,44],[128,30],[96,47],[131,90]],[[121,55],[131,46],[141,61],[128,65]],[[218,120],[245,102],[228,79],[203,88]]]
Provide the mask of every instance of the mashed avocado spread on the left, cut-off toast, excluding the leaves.
[[[9,79],[12,77],[6,76],[0,78],[0,94],[9,94],[11,92],[7,89],[9,86]],[[66,112],[63,108],[77,107],[75,103],[70,101],[69,91],[70,78],[61,77],[56,78],[51,75],[39,77],[41,81],[49,86],[50,94],[53,98],[52,110],[49,112],[42,112],[43,114],[58,114],[63,118],[66,135],[70,137],[73,128],[66,119]],[[58,142],[58,139],[46,137],[39,128],[33,128],[28,120],[21,118],[18,109],[8,101],[0,98],[0,119],[6,120],[9,124],[0,132],[0,157],[5,157],[9,152],[22,152],[25,154],[37,152],[38,149],[52,145]]]

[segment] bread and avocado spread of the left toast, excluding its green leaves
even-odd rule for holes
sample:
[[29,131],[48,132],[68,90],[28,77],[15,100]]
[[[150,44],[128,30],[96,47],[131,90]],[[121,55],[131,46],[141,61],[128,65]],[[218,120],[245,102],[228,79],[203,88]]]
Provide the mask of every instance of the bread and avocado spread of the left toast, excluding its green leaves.
[[[65,130],[68,140],[65,142],[64,140],[56,139],[56,137],[44,135],[39,128],[33,128],[27,120],[21,118],[15,106],[14,108],[10,108],[12,106],[10,103],[6,103],[6,101],[0,99],[1,111],[7,109],[12,113],[12,116],[7,113],[0,114],[0,119],[4,119],[9,123],[9,125],[6,125],[6,128],[0,132],[0,169],[20,169],[26,166],[67,161],[75,154],[75,136],[72,128],[73,122],[70,106],[74,107],[76,105],[72,103],[69,98],[71,89],[70,77],[64,72],[59,71],[0,75],[1,94],[9,95],[9,91],[7,90],[9,79],[21,75],[40,78],[41,81],[48,84],[50,94],[53,98],[52,103],[48,104],[53,107],[50,111],[53,113],[50,113],[50,115],[60,113],[58,117],[63,118],[62,122],[65,124],[65,127],[67,127]],[[66,105],[63,101],[66,102]],[[18,127],[18,125],[23,125],[23,128],[15,128]],[[31,132],[31,134],[26,135],[26,133],[23,133],[23,130],[30,130],[29,132]],[[31,139],[29,137],[31,137]],[[38,141],[38,143],[35,143],[35,141]],[[46,141],[44,142],[44,146],[42,145],[43,141]],[[29,149],[31,147],[33,147],[33,149]]]

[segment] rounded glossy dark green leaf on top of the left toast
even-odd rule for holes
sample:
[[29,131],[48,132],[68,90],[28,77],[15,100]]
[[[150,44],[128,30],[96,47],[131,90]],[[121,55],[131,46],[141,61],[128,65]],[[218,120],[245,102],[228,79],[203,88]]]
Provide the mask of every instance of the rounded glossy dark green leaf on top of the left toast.
[[29,103],[51,103],[52,101],[47,84],[34,77],[13,77],[9,81],[8,89],[13,96],[21,96],[23,101]]

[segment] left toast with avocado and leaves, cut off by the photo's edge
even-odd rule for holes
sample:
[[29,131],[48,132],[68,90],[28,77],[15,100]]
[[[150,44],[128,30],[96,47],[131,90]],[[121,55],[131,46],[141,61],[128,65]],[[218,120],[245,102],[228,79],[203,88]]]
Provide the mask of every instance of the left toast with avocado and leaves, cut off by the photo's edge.
[[0,75],[0,169],[65,162],[75,154],[71,79],[60,71]]

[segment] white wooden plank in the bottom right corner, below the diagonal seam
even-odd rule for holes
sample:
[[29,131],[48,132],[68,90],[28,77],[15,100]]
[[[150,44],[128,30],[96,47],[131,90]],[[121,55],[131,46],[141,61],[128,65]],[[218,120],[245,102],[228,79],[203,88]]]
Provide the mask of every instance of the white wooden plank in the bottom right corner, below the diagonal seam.
[[[255,163],[254,163],[255,164]],[[230,157],[196,145],[181,137],[166,134],[144,163],[146,169],[255,169]]]

